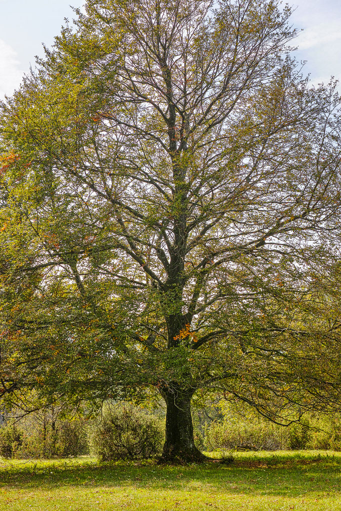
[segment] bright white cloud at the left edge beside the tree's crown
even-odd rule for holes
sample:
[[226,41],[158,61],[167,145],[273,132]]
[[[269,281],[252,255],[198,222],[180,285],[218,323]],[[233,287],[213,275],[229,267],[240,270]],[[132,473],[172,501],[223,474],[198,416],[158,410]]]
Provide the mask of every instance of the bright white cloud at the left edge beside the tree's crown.
[[[1,0],[0,0],[1,1]],[[0,39],[0,98],[5,94],[13,94],[21,82],[22,75],[20,63],[15,51],[5,41]]]

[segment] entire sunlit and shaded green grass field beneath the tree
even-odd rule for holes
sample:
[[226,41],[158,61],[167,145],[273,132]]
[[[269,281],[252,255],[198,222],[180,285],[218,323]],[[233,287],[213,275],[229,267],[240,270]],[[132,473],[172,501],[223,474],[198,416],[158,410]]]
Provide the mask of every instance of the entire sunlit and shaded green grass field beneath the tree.
[[238,453],[230,465],[0,458],[0,510],[341,511],[341,453]]

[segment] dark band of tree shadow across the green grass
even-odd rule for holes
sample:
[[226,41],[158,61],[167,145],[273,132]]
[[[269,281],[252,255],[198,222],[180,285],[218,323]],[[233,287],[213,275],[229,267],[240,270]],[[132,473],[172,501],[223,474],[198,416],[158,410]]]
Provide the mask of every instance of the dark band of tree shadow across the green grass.
[[155,462],[22,461],[3,463],[0,484],[22,490],[120,486],[127,490],[218,491],[293,498],[311,492],[341,492],[340,469],[341,458],[319,455],[237,457],[226,466],[219,462],[157,466]]

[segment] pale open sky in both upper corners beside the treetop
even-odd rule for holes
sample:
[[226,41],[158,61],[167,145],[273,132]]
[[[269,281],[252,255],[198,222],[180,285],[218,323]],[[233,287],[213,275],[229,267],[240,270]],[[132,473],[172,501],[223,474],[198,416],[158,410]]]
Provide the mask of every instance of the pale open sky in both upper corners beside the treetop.
[[[69,4],[82,0],[0,0],[0,98],[11,95],[21,77],[42,56],[41,43],[48,46],[58,35],[64,17],[72,19]],[[291,2],[289,2],[291,4]],[[295,44],[297,57],[307,60],[306,73],[313,83],[341,81],[340,0],[297,0],[292,24],[303,28]]]

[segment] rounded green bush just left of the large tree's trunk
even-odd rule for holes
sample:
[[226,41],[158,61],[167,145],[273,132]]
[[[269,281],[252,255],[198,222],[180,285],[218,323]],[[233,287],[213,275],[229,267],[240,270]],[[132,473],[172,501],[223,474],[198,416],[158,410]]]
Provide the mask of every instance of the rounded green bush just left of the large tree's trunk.
[[90,448],[103,461],[152,458],[161,454],[162,422],[132,405],[106,406],[90,435]]

